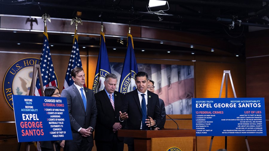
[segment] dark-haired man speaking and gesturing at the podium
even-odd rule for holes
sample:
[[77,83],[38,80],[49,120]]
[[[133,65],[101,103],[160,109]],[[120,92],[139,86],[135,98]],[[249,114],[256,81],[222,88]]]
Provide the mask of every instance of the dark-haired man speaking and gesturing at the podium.
[[[125,129],[154,130],[161,121],[159,97],[147,91],[149,77],[146,72],[138,72],[135,76],[137,89],[124,95],[123,109],[120,111],[120,121],[127,120]],[[152,127],[151,127],[152,126]],[[134,151],[134,138],[124,138],[129,151]]]

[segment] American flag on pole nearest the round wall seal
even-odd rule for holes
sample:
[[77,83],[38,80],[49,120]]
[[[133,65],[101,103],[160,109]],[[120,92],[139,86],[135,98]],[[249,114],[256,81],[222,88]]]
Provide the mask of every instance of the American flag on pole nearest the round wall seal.
[[[54,67],[53,67],[52,59],[51,59],[50,47],[48,44],[48,33],[45,33],[45,32],[44,32],[44,42],[43,42],[41,56],[39,59],[39,64],[40,64],[41,77],[42,77],[44,89],[47,86],[58,87],[57,77],[56,77],[56,74],[54,72]],[[39,83],[39,79],[37,77],[36,87],[35,87],[35,95],[41,96],[41,93],[42,92],[40,89],[40,83]]]

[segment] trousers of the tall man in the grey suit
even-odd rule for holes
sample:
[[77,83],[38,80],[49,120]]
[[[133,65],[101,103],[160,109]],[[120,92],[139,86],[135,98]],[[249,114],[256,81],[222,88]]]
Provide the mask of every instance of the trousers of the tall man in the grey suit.
[[80,143],[65,141],[64,151],[91,151],[92,147],[93,143],[89,143],[87,138],[83,137]]

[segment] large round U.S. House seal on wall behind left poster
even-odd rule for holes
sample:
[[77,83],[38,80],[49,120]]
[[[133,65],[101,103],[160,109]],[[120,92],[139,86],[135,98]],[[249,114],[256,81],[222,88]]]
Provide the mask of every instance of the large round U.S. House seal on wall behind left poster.
[[13,109],[12,95],[28,95],[32,78],[33,78],[33,65],[39,64],[37,58],[24,58],[13,65],[7,70],[4,82],[3,92],[8,105]]

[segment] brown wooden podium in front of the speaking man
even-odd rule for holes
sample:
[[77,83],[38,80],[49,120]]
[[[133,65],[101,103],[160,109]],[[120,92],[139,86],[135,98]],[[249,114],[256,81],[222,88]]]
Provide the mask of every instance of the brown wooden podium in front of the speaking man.
[[171,147],[195,151],[195,129],[120,129],[118,136],[134,138],[135,151],[166,151]]

